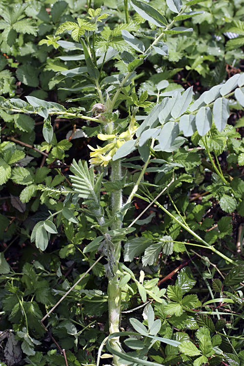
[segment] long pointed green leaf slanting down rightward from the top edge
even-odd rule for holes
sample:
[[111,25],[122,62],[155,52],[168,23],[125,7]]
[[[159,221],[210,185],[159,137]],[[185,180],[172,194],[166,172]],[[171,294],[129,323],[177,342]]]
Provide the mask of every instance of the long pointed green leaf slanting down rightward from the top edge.
[[152,6],[148,5],[143,1],[131,0],[132,6],[135,11],[145,20],[157,25],[158,27],[167,26],[167,20],[163,17],[158,10],[154,9]]

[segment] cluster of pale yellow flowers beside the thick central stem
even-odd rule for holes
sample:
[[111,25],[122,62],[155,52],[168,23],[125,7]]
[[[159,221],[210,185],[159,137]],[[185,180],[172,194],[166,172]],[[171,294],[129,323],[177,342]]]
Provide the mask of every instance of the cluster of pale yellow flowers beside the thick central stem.
[[138,127],[135,126],[136,119],[132,117],[131,122],[129,124],[128,129],[125,132],[122,132],[118,135],[106,135],[106,134],[98,134],[99,140],[102,141],[111,141],[104,147],[100,147],[97,145],[97,148],[88,145],[88,147],[92,150],[90,153],[90,157],[92,159],[89,162],[93,165],[103,165],[107,166],[107,164],[112,160],[116,151],[124,144],[124,142],[132,140],[135,132]]

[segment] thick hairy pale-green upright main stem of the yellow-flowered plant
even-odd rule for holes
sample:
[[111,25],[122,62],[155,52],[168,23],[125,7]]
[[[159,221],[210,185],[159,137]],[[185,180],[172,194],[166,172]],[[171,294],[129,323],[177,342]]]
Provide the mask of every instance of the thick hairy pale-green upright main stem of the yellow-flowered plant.
[[[113,132],[113,123],[109,122],[106,126],[106,132],[111,134]],[[111,163],[111,176],[112,182],[122,179],[121,174],[121,161],[116,160]],[[112,216],[120,210],[122,207],[122,189],[112,192]],[[112,229],[120,229],[122,222],[120,220],[115,220],[112,224]],[[114,276],[109,279],[108,282],[108,321],[109,321],[109,333],[118,333],[120,331],[120,319],[121,319],[121,288],[119,287],[118,279],[118,264],[121,256],[121,242],[116,242],[114,244]],[[121,351],[120,338],[115,337],[111,340],[110,345],[113,349]],[[122,366],[119,362],[118,356],[114,356],[113,364],[116,366]]]

